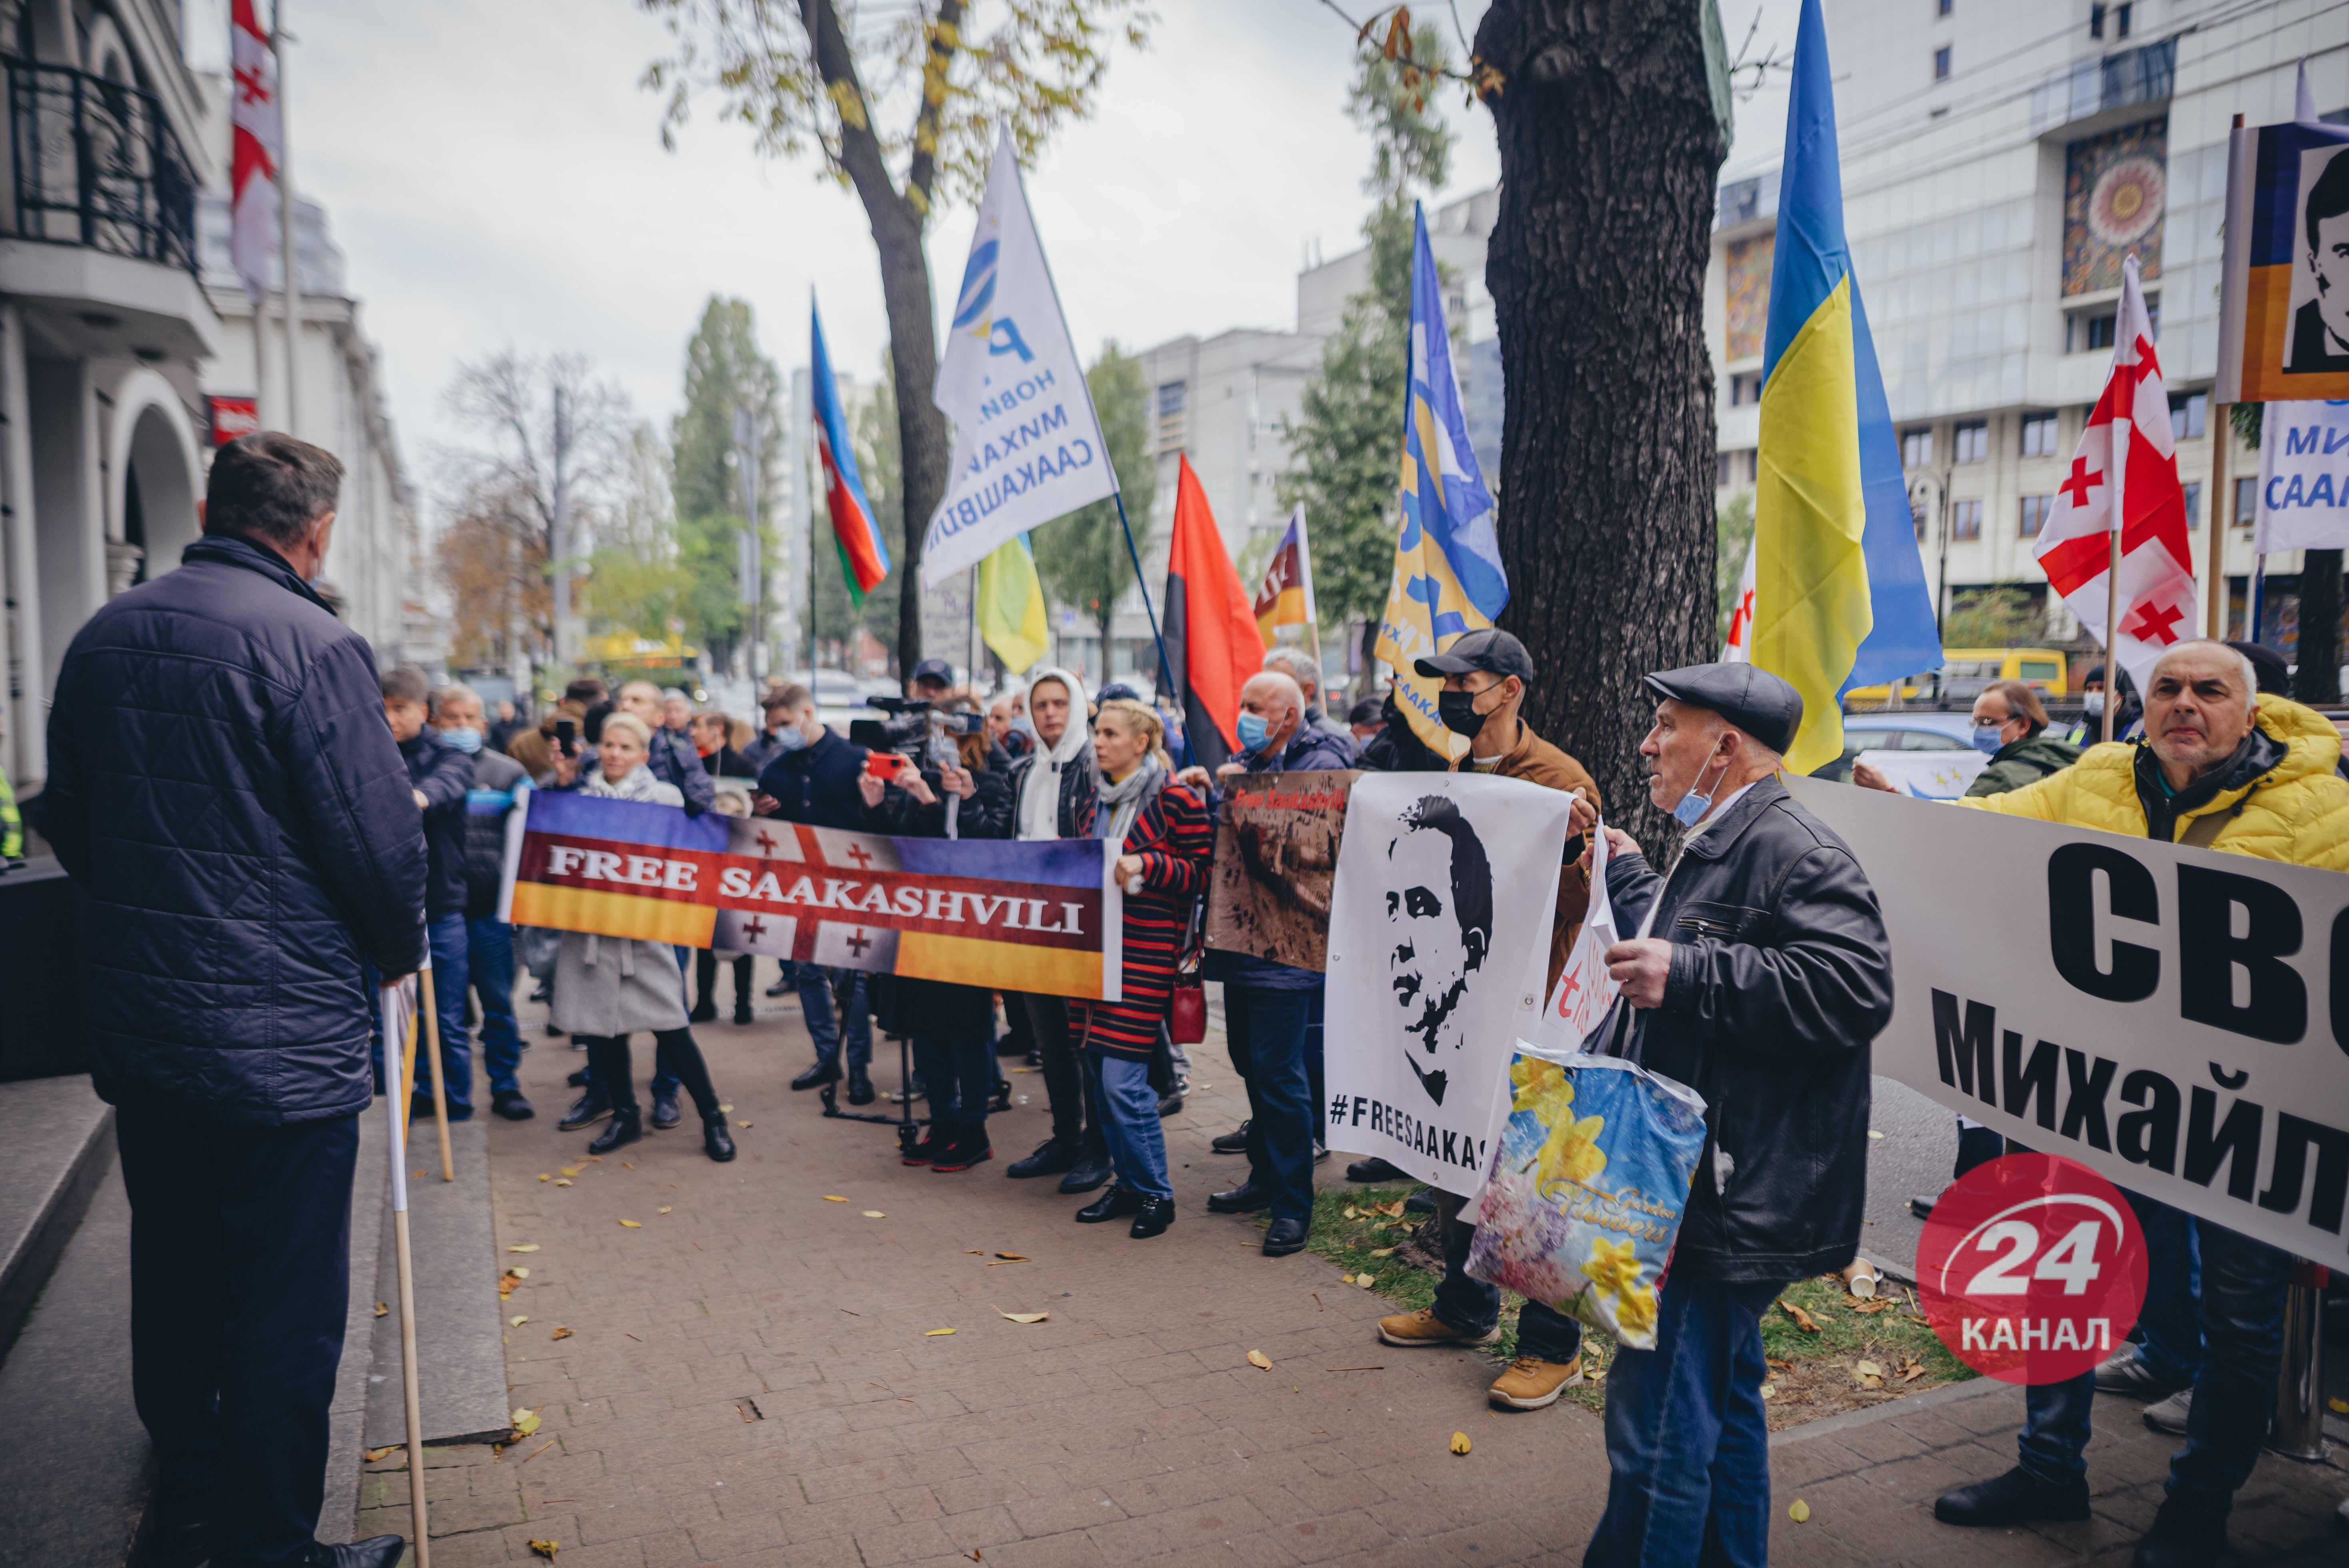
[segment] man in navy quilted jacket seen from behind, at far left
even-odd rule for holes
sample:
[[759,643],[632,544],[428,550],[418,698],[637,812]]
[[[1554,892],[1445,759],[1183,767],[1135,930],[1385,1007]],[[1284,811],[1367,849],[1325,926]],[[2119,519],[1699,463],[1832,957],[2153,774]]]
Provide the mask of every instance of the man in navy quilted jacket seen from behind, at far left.
[[343,465],[211,462],[204,538],[89,617],[42,836],[87,894],[82,998],[132,1199],[132,1387],[157,1559],[390,1568],[315,1540],[371,1101],[362,969],[425,948],[425,836],[376,660],[310,582]]

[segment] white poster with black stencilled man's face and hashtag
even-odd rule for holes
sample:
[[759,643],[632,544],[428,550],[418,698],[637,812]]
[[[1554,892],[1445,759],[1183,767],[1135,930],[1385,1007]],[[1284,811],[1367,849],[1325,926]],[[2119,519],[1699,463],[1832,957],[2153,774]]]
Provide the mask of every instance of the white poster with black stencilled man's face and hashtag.
[[1330,1148],[1473,1195],[1510,1047],[1546,991],[1569,796],[1522,779],[1369,772],[1330,899]]

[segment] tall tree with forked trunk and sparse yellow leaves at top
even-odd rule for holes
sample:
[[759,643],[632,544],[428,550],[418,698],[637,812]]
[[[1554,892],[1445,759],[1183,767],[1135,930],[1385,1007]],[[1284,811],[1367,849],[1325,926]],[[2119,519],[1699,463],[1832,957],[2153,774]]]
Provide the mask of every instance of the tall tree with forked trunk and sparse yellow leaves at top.
[[[667,94],[674,146],[693,99],[716,94],[770,157],[813,155],[855,190],[881,254],[890,371],[918,397],[897,404],[904,462],[897,570],[918,582],[921,530],[947,493],[947,420],[937,380],[935,300],[923,249],[940,204],[987,183],[996,129],[1034,162],[1050,134],[1092,110],[1109,52],[1149,40],[1142,0],[909,0],[860,19],[836,0],[644,0],[674,49],[644,82]],[[853,23],[867,21],[860,31]],[[902,129],[890,129],[902,127]],[[921,594],[897,596],[897,660],[921,660]]]

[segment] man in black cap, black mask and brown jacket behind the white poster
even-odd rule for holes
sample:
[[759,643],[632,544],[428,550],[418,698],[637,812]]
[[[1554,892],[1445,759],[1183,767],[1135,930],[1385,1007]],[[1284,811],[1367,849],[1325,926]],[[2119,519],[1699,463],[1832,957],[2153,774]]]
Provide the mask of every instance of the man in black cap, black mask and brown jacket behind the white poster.
[[[1468,737],[1468,756],[1459,761],[1459,772],[1525,779],[1576,793],[1593,810],[1597,807],[1600,786],[1590,772],[1534,735],[1532,725],[1517,716],[1517,709],[1525,707],[1525,688],[1534,681],[1534,660],[1525,643],[1501,629],[1468,631],[1454,638],[1447,650],[1419,660],[1419,674],[1445,683],[1435,709],[1447,730]],[[1571,857],[1581,854],[1581,845],[1569,843],[1567,854],[1569,861],[1557,871],[1557,908],[1550,915],[1550,965],[1543,995],[1557,984],[1557,972],[1567,965],[1567,948],[1574,946],[1574,927],[1590,908],[1590,890],[1571,864]],[[1372,1162],[1355,1162],[1346,1174],[1360,1181],[1355,1169],[1367,1164]],[[1435,1192],[1438,1230],[1445,1237],[1445,1279],[1435,1289],[1433,1305],[1379,1319],[1379,1338],[1388,1345],[1405,1350],[1487,1345],[1499,1333],[1501,1291],[1468,1277],[1468,1246],[1475,1242],[1475,1225],[1461,1223],[1461,1202],[1452,1192]],[[1487,1399],[1510,1411],[1539,1411],[1555,1404],[1564,1390],[1583,1380],[1581,1347],[1581,1324],[1539,1300],[1525,1303],[1525,1312],[1517,1314],[1517,1359],[1494,1380]]]

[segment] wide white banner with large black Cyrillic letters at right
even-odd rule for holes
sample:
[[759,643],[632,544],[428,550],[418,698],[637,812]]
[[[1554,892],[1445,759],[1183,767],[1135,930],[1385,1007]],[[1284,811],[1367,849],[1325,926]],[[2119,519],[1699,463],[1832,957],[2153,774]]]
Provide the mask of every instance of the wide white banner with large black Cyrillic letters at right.
[[1884,906],[1875,1070],[2316,1263],[2349,1197],[2349,876],[1788,779]]

